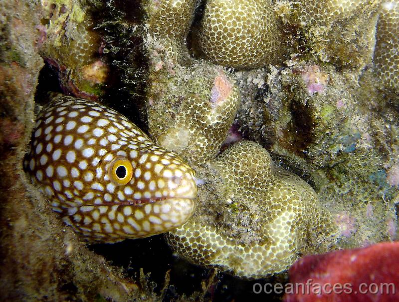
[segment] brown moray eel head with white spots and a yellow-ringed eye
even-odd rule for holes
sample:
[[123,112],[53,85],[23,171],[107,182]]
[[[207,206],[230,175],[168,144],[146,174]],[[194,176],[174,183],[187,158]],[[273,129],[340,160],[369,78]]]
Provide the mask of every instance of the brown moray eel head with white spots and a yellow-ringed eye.
[[190,166],[118,112],[74,97],[57,95],[41,110],[24,169],[92,242],[164,233],[195,209]]

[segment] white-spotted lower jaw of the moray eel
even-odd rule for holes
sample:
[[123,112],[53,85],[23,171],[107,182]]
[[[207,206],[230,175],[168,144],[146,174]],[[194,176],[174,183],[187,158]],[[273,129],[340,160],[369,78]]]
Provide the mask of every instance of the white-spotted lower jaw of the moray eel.
[[107,204],[70,207],[62,220],[89,241],[117,242],[162,234],[185,224],[196,202],[188,198],[166,198],[141,204]]

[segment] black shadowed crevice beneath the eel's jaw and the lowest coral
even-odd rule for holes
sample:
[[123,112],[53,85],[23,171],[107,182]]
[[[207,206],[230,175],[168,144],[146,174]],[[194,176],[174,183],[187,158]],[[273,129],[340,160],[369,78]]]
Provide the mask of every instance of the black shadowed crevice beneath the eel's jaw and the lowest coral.
[[[194,292],[201,292],[201,282],[207,282],[211,275],[210,269],[192,265],[186,260],[178,257],[169,248],[163,235],[150,238],[125,240],[116,244],[96,244],[89,247],[93,252],[104,256],[113,265],[122,267],[128,277],[138,280],[140,269],[144,274],[150,273],[149,281],[154,283],[154,291],[160,294],[165,274],[170,271],[169,288],[164,295],[164,302],[176,301],[183,294],[187,297]],[[266,283],[274,284],[287,282],[286,274],[268,279],[245,280],[230,276],[226,273],[216,275],[210,286],[209,292],[204,301],[214,302],[263,302],[280,301],[282,294],[253,293],[253,286],[259,283],[262,286]]]

